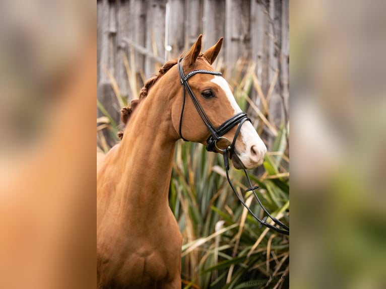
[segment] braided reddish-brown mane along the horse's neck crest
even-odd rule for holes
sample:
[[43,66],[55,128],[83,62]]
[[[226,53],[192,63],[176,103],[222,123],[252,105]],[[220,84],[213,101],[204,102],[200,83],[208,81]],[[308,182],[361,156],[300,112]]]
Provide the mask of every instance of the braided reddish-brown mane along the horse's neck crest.
[[[130,105],[122,107],[120,110],[121,112],[121,120],[124,124],[127,124],[128,119],[132,115],[133,111],[137,107],[137,105],[148,96],[149,90],[152,88],[152,86],[165,74],[167,71],[173,67],[175,64],[177,64],[177,59],[169,60],[167,61],[160,70],[158,71],[158,75],[153,76],[152,78],[148,79],[144,87],[141,88],[140,95],[138,99],[133,99],[130,103]],[[123,137],[123,131],[118,132],[118,137],[122,139]]]

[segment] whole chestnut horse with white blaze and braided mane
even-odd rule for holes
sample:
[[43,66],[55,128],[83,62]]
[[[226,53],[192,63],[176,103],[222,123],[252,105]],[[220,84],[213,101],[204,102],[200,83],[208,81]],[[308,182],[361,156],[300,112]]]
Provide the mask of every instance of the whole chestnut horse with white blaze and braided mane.
[[[214,127],[242,114],[228,83],[211,66],[223,39],[201,53],[201,38],[182,63],[166,62],[140,98],[122,109],[127,122],[122,141],[98,164],[98,288],[181,288],[182,237],[168,204],[174,148],[181,137],[207,144],[211,135],[194,101],[185,98],[181,71],[194,74],[189,89]],[[236,134],[234,167],[261,165],[267,149],[251,123],[233,126],[222,136]]]

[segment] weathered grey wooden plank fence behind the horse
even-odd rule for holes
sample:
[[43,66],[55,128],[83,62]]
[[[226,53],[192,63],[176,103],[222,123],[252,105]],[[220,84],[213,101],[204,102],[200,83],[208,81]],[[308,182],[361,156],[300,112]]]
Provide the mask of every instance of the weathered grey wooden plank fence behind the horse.
[[219,58],[226,67],[240,57],[254,61],[265,95],[278,76],[270,115],[277,124],[283,120],[282,98],[286,106],[289,98],[289,0],[97,0],[97,23],[97,98],[113,118],[119,119],[120,107],[107,73],[130,100],[160,64],[202,33],[203,49],[224,37]]

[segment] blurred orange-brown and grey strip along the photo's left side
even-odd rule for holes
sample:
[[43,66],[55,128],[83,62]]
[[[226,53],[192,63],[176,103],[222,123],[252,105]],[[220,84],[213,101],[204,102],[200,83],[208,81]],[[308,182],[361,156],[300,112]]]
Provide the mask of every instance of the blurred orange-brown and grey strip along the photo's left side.
[[95,288],[96,7],[0,4],[0,288]]

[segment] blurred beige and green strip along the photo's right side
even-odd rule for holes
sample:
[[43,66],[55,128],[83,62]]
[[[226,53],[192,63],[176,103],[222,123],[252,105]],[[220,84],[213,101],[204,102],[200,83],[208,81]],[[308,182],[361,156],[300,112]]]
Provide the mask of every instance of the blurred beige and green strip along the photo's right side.
[[291,4],[290,284],[385,288],[385,4]]

